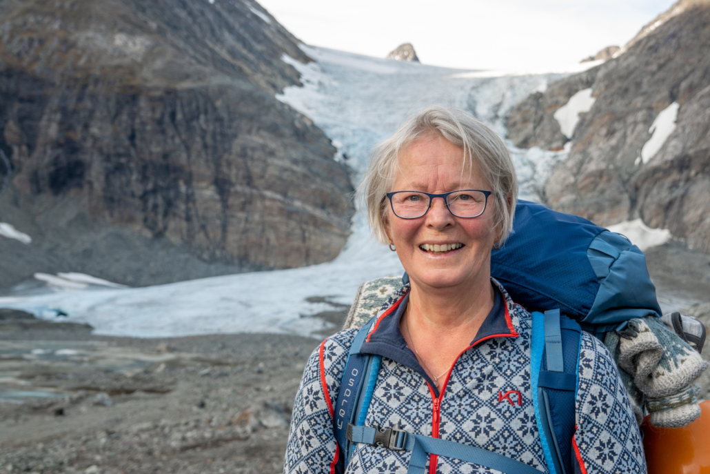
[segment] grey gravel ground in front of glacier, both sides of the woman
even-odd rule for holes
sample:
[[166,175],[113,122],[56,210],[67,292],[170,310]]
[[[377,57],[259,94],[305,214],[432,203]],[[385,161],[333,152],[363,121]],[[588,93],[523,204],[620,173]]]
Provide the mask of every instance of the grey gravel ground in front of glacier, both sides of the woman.
[[[677,243],[646,253],[664,310],[709,326],[710,256]],[[346,311],[319,316],[339,327]],[[318,343],[108,338],[0,311],[0,473],[278,473]],[[710,398],[710,373],[699,382]]]

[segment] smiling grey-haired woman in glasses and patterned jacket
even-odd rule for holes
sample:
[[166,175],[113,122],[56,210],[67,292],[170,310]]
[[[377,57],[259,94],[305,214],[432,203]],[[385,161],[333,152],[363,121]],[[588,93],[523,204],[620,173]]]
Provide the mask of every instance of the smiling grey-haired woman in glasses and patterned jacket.
[[[383,356],[366,426],[399,426],[550,472],[532,406],[531,316],[491,279],[491,249],[512,228],[518,193],[503,141],[464,112],[425,109],[378,147],[360,192],[378,239],[396,250],[410,278],[360,351]],[[310,358],[294,404],[286,473],[344,469],[332,405],[356,333],[337,333]],[[580,354],[575,470],[645,473],[611,356],[586,333]],[[347,472],[406,473],[410,456],[358,443]],[[427,457],[429,473],[497,472]]]

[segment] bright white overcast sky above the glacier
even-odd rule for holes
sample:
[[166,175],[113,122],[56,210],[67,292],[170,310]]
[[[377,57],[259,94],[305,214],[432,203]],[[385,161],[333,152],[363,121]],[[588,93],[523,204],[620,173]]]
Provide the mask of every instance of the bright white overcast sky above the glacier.
[[[219,1],[219,0],[217,0]],[[413,43],[422,63],[559,70],[623,45],[670,0],[261,0],[304,43],[383,58]]]

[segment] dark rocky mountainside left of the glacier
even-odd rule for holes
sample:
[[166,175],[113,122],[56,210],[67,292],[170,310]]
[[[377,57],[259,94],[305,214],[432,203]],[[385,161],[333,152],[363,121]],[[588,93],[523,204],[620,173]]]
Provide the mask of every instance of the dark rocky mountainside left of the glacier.
[[[348,169],[275,98],[297,39],[249,0],[0,1],[0,286],[129,285],[326,262]],[[0,167],[4,171],[4,167]]]

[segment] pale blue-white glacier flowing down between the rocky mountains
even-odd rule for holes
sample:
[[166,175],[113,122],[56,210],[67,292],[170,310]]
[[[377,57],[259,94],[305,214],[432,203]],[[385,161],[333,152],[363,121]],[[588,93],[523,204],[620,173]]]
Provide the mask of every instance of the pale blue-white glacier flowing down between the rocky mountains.
[[[306,45],[302,49],[315,61],[304,65],[283,57],[301,73],[302,87],[288,87],[278,99],[325,132],[338,150],[334,159],[352,168],[355,185],[373,146],[410,114],[431,104],[460,107],[506,136],[504,119],[510,109],[567,75],[454,70]],[[520,198],[538,200],[542,183],[566,152],[521,150],[506,143],[518,170]],[[54,291],[6,296],[0,306],[39,318],[89,323],[101,335],[285,333],[317,338],[332,323],[314,315],[332,311],[333,304],[349,305],[363,281],[402,272],[396,254],[376,242],[365,212],[357,210],[346,247],[325,264],[144,288],[48,286]]]

